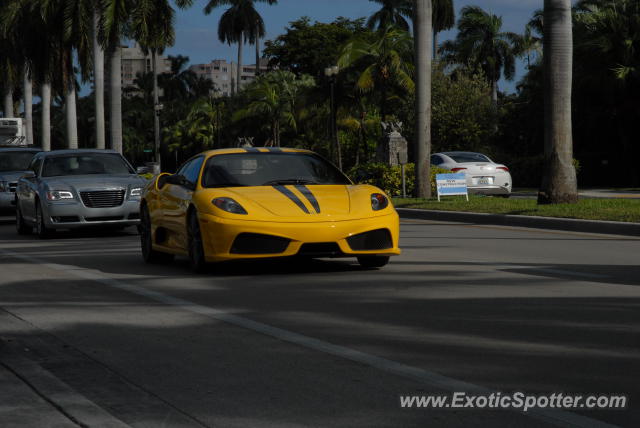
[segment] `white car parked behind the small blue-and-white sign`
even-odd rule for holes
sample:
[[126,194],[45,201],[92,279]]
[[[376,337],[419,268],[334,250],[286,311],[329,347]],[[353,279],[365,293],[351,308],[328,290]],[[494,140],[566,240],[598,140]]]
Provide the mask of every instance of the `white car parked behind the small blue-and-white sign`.
[[431,155],[431,165],[451,172],[465,173],[469,193],[511,195],[511,174],[505,165],[495,163],[481,153],[444,152]]

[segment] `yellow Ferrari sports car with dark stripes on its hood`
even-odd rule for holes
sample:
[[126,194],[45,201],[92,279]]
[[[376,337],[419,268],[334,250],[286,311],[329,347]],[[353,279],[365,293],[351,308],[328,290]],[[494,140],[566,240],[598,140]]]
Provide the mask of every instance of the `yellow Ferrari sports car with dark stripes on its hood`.
[[357,257],[368,268],[400,254],[399,219],[384,192],[355,185],[321,156],[288,148],[201,153],[160,174],[140,204],[147,263],[266,257]]

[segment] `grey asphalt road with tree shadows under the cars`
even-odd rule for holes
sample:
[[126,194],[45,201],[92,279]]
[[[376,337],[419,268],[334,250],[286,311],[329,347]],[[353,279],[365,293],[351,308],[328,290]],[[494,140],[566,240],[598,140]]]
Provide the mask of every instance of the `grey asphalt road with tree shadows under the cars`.
[[[640,426],[640,239],[429,221],[401,236],[382,270],[284,260],[194,275],[186,260],[143,264],[134,230],[40,241],[5,220],[0,360],[34,361],[134,427]],[[630,401],[400,406],[465,390]]]

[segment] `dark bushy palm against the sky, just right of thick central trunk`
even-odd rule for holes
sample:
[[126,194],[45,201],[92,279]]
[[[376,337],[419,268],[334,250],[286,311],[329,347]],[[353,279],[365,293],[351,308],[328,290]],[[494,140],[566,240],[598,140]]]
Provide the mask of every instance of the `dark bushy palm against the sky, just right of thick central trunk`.
[[498,81],[515,76],[515,57],[519,36],[502,31],[502,17],[485,12],[478,6],[462,8],[458,35],[443,43],[445,62],[480,68],[491,84],[491,99],[498,103]]

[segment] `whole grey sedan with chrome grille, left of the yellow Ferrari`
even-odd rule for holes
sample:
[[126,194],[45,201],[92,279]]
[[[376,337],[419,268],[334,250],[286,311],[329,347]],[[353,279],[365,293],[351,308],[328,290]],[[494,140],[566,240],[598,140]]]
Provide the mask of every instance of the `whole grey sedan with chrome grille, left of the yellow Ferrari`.
[[111,150],[38,153],[16,189],[16,228],[41,238],[55,229],[140,223],[146,181]]

